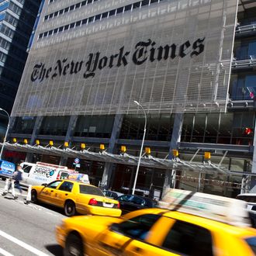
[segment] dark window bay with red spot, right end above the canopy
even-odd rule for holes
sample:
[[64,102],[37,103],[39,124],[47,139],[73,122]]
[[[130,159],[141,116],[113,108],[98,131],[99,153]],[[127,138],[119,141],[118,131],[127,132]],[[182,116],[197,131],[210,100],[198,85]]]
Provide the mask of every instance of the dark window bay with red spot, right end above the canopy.
[[185,114],[182,142],[251,145],[254,116],[254,112]]

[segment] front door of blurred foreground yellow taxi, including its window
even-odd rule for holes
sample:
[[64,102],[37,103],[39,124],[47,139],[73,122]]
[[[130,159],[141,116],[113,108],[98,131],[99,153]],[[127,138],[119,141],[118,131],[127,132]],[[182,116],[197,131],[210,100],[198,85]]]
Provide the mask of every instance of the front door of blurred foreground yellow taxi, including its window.
[[[160,256],[163,250],[148,243],[147,240],[151,228],[160,218],[161,216],[157,214],[143,214],[130,220],[124,220],[122,223],[114,223],[108,230],[96,237],[97,243],[89,246],[88,254]],[[175,254],[169,253],[168,255]]]

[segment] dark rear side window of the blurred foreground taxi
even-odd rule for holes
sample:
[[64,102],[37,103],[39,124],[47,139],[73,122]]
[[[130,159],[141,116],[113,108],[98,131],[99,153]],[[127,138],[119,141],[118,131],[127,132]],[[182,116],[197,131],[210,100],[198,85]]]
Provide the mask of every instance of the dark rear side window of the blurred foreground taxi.
[[162,247],[188,256],[213,256],[209,230],[180,220],[171,227]]

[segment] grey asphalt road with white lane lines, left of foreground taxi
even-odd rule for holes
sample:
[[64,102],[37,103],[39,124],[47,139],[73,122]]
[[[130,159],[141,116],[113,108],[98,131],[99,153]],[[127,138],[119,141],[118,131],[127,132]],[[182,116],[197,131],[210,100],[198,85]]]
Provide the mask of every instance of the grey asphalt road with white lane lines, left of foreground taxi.
[[5,182],[0,181],[0,255],[62,255],[55,240],[55,227],[65,218],[61,210],[29,203],[26,191],[14,200],[3,196]]

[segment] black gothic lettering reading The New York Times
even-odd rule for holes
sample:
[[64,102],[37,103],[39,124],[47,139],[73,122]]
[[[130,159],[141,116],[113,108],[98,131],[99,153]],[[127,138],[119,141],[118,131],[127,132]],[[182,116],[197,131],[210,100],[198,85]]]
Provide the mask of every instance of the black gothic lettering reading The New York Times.
[[31,81],[44,81],[46,79],[56,79],[69,74],[84,72],[84,78],[94,78],[97,71],[103,68],[125,67],[129,60],[135,65],[144,64],[145,61],[166,61],[169,58],[195,57],[202,54],[204,50],[205,37],[199,38],[194,42],[189,40],[181,45],[172,43],[165,46],[157,46],[157,43],[148,39],[138,42],[133,52],[126,51],[124,47],[119,48],[116,54],[102,56],[100,52],[88,54],[86,61],[72,61],[64,58],[57,60],[54,67],[47,67],[40,63],[33,67]]

